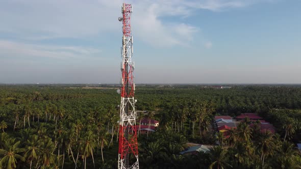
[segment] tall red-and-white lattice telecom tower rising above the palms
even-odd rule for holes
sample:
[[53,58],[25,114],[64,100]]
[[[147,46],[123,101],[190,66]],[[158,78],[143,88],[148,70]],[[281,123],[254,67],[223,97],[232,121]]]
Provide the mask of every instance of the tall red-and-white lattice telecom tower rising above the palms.
[[121,104],[119,120],[119,151],[118,151],[118,168],[119,169],[136,169],[138,163],[138,143],[136,131],[136,111],[134,93],[134,63],[132,63],[133,54],[133,37],[131,28],[131,14],[133,8],[131,4],[122,4],[122,47],[121,47]]

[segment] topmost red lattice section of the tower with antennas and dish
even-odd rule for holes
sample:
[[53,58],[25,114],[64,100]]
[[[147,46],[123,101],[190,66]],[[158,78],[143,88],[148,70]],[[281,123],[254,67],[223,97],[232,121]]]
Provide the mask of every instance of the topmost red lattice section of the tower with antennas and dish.
[[131,37],[132,36],[132,27],[131,27],[131,14],[133,12],[133,6],[131,4],[122,4],[121,13],[122,17],[119,17],[118,20],[122,21],[122,32],[123,36]]

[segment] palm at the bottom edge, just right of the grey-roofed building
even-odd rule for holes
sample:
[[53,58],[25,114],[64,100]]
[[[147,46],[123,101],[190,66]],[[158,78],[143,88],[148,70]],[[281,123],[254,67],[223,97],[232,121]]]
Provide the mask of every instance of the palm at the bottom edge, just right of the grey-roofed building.
[[232,167],[229,163],[227,163],[226,159],[226,151],[221,147],[221,146],[215,146],[213,147],[210,152],[210,159],[211,159],[211,164],[209,166],[210,169],[218,168],[218,169],[223,169],[226,166]]

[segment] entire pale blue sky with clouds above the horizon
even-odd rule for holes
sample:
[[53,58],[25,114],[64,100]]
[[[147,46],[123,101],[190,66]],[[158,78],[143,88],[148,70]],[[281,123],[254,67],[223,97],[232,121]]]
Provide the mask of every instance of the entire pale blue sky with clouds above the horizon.
[[[0,2],[0,83],[118,83],[122,0]],[[132,0],[136,83],[301,83],[301,1]]]

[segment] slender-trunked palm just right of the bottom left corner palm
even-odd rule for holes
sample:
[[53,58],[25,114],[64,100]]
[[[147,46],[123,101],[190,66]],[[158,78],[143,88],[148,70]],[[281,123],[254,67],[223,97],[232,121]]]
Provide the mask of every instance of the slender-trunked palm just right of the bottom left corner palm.
[[37,135],[31,135],[27,140],[26,153],[24,154],[24,158],[30,161],[30,168],[32,168],[33,160],[38,159],[39,152],[39,137]]

